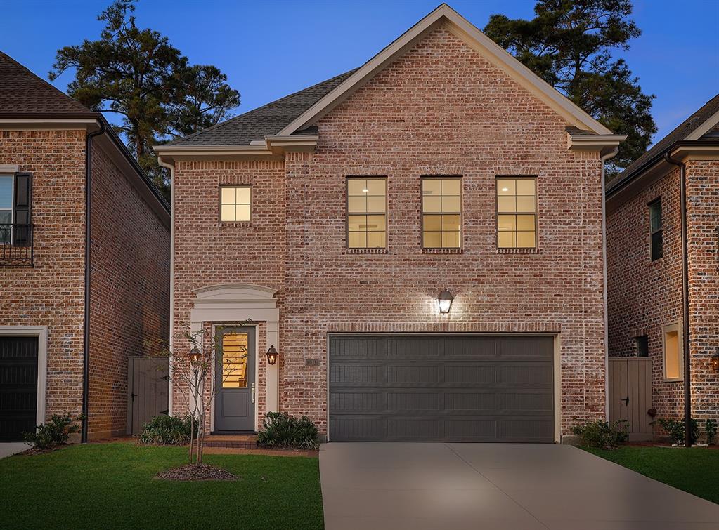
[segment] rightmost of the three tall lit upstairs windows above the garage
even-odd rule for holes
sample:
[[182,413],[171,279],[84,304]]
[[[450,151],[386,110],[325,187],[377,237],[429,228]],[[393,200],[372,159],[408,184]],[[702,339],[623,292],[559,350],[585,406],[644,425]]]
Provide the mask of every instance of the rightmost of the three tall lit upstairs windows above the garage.
[[497,179],[497,246],[536,248],[536,179]]

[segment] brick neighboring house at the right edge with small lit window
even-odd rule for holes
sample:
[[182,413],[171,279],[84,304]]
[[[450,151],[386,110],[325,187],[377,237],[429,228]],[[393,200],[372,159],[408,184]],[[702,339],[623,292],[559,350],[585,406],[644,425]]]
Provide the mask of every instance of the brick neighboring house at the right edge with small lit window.
[[610,182],[606,210],[609,355],[651,358],[656,417],[679,419],[689,353],[692,417],[718,420],[719,95]]

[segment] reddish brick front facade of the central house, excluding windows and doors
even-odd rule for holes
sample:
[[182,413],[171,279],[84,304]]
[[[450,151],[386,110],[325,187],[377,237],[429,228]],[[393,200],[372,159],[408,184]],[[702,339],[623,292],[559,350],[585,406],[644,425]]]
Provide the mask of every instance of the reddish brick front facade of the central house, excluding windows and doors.
[[[324,116],[315,152],[176,162],[175,331],[193,289],[278,289],[279,406],[321,432],[327,333],[559,333],[562,433],[574,417],[603,418],[601,162],[567,149],[567,125],[440,27]],[[345,179],[365,175],[388,179],[386,251],[345,248]],[[423,175],[462,176],[461,251],[422,250]],[[498,175],[537,177],[538,248],[496,248]],[[253,185],[251,226],[218,223],[230,182]],[[444,287],[456,298],[439,316]]]

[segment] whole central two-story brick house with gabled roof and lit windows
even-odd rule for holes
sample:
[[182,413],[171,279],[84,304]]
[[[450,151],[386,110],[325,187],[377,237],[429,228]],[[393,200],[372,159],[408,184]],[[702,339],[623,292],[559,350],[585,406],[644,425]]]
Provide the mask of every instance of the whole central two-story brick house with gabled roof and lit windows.
[[362,68],[159,147],[173,329],[222,325],[232,352],[210,429],[280,409],[329,440],[553,442],[604,418],[623,138],[443,4]]

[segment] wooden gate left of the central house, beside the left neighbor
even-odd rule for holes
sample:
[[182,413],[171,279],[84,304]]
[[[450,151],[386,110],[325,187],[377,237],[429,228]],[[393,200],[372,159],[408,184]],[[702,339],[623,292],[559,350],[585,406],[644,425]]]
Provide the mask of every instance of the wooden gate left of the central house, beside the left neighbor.
[[168,414],[168,357],[129,357],[127,363],[127,434],[159,414]]

